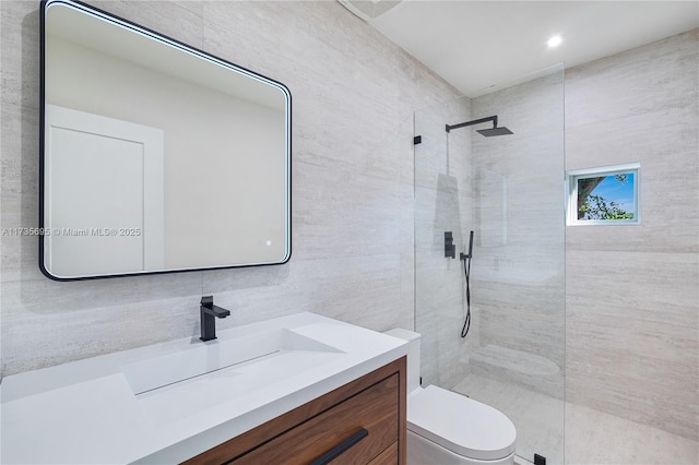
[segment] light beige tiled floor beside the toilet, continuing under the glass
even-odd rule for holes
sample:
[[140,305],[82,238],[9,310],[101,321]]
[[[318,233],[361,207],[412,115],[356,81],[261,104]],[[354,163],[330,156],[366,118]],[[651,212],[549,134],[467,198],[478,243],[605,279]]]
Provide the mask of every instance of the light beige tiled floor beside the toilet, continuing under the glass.
[[526,386],[469,374],[453,388],[505,413],[517,426],[518,454],[566,465],[696,465],[699,442],[657,428],[533,392]]

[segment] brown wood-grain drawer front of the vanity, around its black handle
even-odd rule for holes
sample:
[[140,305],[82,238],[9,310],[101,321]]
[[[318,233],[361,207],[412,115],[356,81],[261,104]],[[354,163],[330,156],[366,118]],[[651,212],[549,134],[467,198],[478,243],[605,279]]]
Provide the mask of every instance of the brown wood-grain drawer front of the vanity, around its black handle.
[[308,464],[362,429],[368,434],[334,458],[332,464],[369,463],[399,439],[399,375],[393,374],[253,449],[234,463]]

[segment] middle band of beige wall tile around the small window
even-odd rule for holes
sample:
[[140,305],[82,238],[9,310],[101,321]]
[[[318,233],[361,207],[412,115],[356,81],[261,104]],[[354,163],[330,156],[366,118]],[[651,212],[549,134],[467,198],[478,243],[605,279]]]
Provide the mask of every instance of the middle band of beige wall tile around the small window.
[[570,227],[570,249],[699,252],[699,134],[691,128],[696,120],[696,106],[666,108],[567,131],[568,169],[641,165],[641,224]]

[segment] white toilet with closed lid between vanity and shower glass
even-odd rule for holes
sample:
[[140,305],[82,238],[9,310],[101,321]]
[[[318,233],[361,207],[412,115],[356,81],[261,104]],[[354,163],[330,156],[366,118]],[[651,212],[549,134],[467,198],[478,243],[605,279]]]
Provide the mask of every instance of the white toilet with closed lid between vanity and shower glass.
[[512,421],[465,395],[420,388],[420,335],[402,329],[386,334],[408,342],[407,465],[513,465]]

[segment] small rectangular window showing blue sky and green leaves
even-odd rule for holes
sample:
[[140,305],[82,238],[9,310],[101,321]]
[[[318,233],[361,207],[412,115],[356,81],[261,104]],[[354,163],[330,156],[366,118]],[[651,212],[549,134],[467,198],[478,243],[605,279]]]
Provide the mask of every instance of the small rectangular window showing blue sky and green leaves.
[[640,223],[639,169],[633,163],[567,171],[568,225]]

